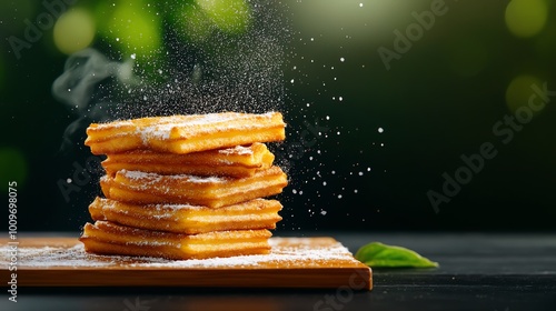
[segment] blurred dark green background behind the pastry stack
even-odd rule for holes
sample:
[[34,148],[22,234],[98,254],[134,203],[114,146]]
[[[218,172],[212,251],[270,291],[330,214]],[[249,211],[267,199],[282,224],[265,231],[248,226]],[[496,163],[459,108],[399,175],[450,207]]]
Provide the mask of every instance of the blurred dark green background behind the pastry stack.
[[[555,7],[2,1],[0,191],[18,182],[20,230],[78,231],[91,121],[280,110],[278,231],[554,231]],[[53,94],[75,53],[88,87]]]

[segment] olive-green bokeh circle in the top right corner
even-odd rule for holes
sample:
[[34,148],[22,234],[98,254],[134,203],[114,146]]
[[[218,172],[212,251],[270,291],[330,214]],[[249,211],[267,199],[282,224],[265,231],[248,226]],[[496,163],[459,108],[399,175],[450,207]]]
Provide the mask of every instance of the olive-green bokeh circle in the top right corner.
[[533,37],[545,27],[548,6],[545,0],[512,0],[505,18],[512,33],[520,38]]

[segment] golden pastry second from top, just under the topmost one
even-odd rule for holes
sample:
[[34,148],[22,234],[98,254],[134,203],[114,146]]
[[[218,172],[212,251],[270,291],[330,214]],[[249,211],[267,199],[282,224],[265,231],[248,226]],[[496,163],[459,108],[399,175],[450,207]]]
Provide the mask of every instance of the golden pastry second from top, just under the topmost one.
[[249,177],[272,165],[275,156],[260,142],[248,147],[192,152],[187,154],[135,150],[108,154],[102,167],[108,174],[117,171],[142,171],[160,174]]

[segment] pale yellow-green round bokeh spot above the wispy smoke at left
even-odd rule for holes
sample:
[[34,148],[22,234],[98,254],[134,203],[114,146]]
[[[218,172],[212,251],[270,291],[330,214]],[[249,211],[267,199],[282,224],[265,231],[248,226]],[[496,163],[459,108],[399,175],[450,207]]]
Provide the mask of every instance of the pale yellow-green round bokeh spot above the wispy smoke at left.
[[72,9],[58,19],[54,24],[54,43],[58,50],[72,54],[92,43],[95,21],[85,9]]

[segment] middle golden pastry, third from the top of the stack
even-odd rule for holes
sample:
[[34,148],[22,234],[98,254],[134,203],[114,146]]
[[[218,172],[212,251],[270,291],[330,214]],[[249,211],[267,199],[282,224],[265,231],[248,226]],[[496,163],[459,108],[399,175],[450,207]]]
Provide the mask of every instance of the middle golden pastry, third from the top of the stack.
[[220,208],[281,192],[288,183],[279,167],[257,171],[247,178],[161,175],[118,171],[103,175],[100,187],[108,199],[131,203],[177,203]]

